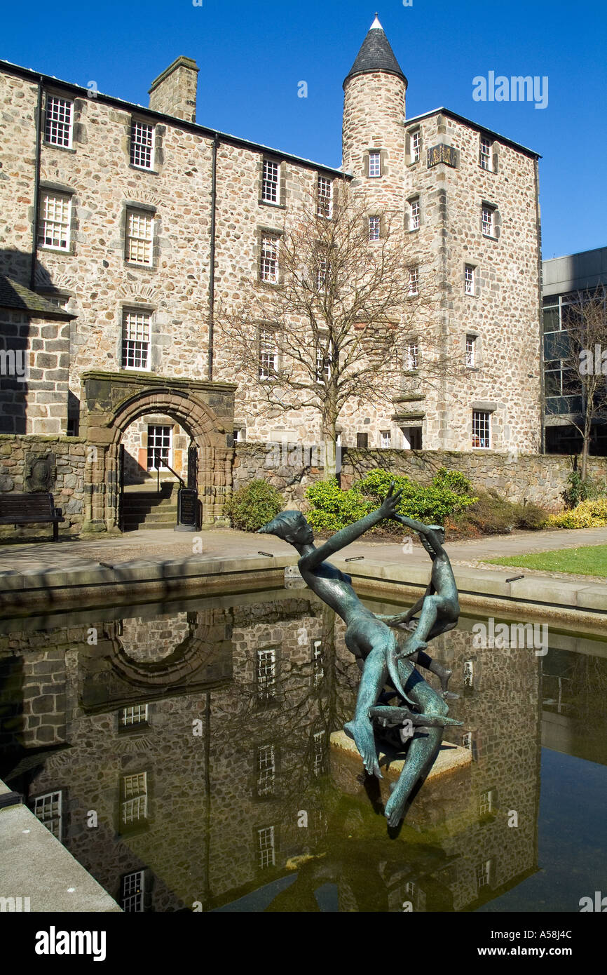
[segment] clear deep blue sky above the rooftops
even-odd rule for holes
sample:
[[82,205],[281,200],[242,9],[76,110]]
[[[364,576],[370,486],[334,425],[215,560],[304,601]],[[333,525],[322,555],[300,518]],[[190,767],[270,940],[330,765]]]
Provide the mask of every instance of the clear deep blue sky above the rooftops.
[[[337,167],[341,86],[376,9],[407,116],[446,105],[542,154],[545,257],[606,246],[604,0],[29,0],[3,11],[0,58],[147,104],[186,55],[201,69],[199,123]],[[548,106],[474,101],[489,71],[547,76]]]

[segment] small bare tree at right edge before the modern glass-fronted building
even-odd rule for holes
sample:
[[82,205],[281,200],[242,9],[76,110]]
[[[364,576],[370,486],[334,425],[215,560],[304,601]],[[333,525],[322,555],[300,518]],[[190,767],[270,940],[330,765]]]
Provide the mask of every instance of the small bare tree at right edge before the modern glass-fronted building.
[[570,421],[582,437],[581,477],[586,481],[592,427],[607,421],[607,289],[599,285],[574,292],[562,306],[561,329],[555,349],[560,355],[547,363],[547,377],[558,392],[560,374],[563,395],[581,401],[582,409],[572,411]]

